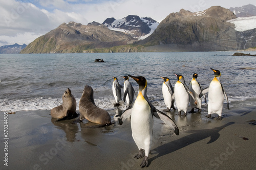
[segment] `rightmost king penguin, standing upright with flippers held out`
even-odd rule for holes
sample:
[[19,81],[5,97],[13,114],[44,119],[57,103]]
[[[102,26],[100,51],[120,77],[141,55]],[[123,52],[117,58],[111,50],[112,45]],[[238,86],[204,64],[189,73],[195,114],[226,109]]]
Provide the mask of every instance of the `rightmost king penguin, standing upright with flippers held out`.
[[214,71],[214,79],[210,82],[209,87],[203,89],[203,91],[199,94],[201,98],[203,94],[208,93],[208,115],[206,117],[210,118],[212,113],[217,113],[219,116],[217,120],[222,119],[222,109],[224,96],[227,101],[227,109],[229,109],[228,98],[225,92],[224,87],[221,84],[221,72],[217,69],[212,69]]

